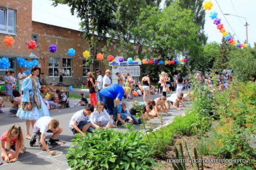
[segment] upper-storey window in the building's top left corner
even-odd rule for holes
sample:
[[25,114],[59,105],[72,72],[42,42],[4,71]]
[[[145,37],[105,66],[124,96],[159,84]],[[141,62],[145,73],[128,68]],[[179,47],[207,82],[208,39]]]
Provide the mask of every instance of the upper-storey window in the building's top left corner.
[[0,32],[16,33],[16,11],[0,7]]

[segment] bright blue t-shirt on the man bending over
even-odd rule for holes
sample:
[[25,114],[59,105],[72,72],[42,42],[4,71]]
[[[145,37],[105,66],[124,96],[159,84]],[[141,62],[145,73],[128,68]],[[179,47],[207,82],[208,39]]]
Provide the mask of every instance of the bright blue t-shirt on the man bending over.
[[119,84],[113,84],[103,88],[100,91],[100,94],[109,97],[110,99],[118,98],[119,100],[122,100],[125,91],[123,91],[123,87]]

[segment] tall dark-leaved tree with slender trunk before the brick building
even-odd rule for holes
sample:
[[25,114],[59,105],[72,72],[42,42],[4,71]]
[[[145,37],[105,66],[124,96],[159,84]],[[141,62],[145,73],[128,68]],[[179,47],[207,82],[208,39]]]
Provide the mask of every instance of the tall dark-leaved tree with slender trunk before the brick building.
[[[115,0],[53,0],[53,5],[66,4],[71,7],[72,15],[81,19],[81,30],[85,39],[89,40],[92,55],[93,69],[96,69],[95,57],[98,53],[98,42],[103,41],[110,29],[115,29],[115,12],[117,1]],[[94,70],[96,71],[96,70]]]

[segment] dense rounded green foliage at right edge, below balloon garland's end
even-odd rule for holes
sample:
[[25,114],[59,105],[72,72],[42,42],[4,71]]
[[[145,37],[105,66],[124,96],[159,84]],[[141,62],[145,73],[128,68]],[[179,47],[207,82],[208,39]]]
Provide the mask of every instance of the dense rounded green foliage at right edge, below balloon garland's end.
[[240,81],[247,81],[256,75],[256,56],[249,49],[233,50],[229,59],[229,68]]

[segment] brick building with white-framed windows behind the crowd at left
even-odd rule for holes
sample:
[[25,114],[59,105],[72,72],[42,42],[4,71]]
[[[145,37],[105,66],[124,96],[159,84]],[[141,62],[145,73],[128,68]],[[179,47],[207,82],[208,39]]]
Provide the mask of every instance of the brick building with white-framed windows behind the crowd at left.
[[[16,58],[23,57],[28,61],[36,58],[42,67],[41,78],[46,79],[47,83],[59,82],[59,76],[63,74],[65,85],[85,84],[86,73],[92,70],[92,65],[86,66],[82,57],[82,52],[89,49],[88,42],[83,40],[82,32],[32,21],[32,0],[0,2],[0,40],[8,35],[13,36],[14,46],[6,48],[3,42],[0,46],[0,58],[9,57],[11,62],[11,67],[7,70],[15,71],[15,75],[18,75]],[[27,42],[30,40],[35,40],[38,48],[29,50]],[[48,46],[51,44],[57,46],[56,53],[49,52]],[[99,48],[104,45],[102,42]],[[68,56],[69,48],[76,50],[75,56]],[[109,50],[113,56],[118,55],[116,49]],[[99,61],[94,62],[96,69],[104,71],[103,64]],[[5,71],[6,69],[0,69],[1,80]]]

